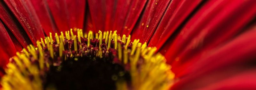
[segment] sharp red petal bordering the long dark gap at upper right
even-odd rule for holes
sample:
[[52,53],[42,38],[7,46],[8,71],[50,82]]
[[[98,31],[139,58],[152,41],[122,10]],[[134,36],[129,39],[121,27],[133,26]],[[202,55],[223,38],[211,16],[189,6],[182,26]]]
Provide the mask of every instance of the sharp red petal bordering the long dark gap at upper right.
[[202,0],[172,0],[148,45],[161,48],[178,26],[184,22],[201,2]]

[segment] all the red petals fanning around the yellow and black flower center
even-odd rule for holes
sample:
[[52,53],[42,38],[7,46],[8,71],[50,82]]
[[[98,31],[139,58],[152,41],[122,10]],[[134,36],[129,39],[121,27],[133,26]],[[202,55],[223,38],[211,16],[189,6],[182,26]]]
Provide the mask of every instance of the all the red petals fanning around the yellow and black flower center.
[[[50,32],[61,35],[61,31],[76,27],[74,30],[93,33],[116,30],[113,43],[108,43],[108,35],[102,36],[108,47],[117,46],[115,37],[119,34],[156,46],[175,74],[171,89],[256,89],[255,17],[255,0],[2,0],[1,74],[5,74],[9,58],[12,61],[22,48],[38,45],[36,41],[50,36]],[[86,42],[94,40],[83,38]],[[100,42],[99,36],[95,38],[93,48]],[[72,42],[70,45],[76,44],[76,39],[83,43],[73,36],[71,41],[63,39]],[[53,43],[59,44],[57,40]],[[88,42],[86,46],[89,48]]]

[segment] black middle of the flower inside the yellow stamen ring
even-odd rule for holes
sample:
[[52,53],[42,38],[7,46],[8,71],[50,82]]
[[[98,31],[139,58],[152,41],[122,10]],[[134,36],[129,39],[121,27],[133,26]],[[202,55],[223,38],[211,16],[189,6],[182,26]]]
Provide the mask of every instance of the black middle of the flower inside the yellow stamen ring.
[[60,66],[51,66],[46,74],[44,88],[55,87],[58,90],[114,90],[115,81],[130,81],[130,74],[119,64],[113,64],[113,58],[84,56],[68,58]]

